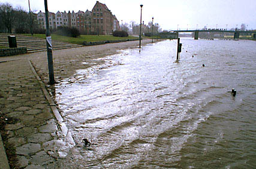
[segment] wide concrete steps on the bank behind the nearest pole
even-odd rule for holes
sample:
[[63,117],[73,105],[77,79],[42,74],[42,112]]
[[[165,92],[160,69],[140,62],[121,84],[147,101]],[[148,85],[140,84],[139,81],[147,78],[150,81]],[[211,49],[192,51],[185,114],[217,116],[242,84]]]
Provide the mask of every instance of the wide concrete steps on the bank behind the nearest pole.
[[[9,34],[0,34],[0,46],[9,47],[8,44]],[[28,53],[34,53],[39,51],[47,51],[46,39],[35,38],[32,36],[25,36],[22,34],[13,34],[16,36],[17,47],[26,47]],[[52,41],[53,50],[61,50],[66,48],[83,47],[83,45],[70,44],[61,41]]]

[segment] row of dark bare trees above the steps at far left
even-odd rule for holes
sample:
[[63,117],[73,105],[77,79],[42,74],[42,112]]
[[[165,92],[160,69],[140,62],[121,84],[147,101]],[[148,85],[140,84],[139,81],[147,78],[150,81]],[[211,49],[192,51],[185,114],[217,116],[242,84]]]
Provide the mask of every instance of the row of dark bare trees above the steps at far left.
[[38,23],[33,13],[11,4],[0,4],[0,33],[33,33]]

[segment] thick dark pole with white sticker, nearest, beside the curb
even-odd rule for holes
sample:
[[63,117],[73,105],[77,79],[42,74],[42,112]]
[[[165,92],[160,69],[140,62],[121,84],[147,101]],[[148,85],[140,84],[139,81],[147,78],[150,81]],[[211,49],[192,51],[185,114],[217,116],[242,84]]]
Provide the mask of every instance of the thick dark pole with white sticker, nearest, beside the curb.
[[50,36],[50,30],[49,30],[47,0],[44,0],[44,7],[46,9],[46,47],[47,47],[49,79],[50,79],[50,84],[54,84],[55,80],[54,80],[53,59],[52,59],[52,37]]

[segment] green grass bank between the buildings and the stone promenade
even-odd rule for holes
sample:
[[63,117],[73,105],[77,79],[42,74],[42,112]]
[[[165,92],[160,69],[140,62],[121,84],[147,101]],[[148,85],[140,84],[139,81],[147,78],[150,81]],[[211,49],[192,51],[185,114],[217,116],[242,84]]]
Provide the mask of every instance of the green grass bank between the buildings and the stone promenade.
[[[31,34],[25,34],[27,36],[32,36]],[[34,37],[37,38],[46,38],[44,34],[34,34]],[[69,42],[71,44],[83,44],[84,41],[86,42],[95,42],[95,41],[113,41],[113,40],[122,40],[122,39],[138,39],[134,36],[128,37],[115,37],[111,35],[80,35],[78,38],[68,37],[68,36],[61,36],[52,34],[52,39],[56,41],[62,42]]]

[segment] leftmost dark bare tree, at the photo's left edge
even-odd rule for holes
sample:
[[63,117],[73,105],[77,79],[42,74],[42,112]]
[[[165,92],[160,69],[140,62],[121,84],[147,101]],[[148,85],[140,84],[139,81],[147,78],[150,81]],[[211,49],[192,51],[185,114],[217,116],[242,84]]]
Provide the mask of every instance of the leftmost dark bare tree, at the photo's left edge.
[[8,32],[11,33],[15,21],[15,12],[11,4],[0,5],[0,16]]

